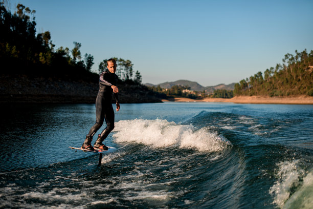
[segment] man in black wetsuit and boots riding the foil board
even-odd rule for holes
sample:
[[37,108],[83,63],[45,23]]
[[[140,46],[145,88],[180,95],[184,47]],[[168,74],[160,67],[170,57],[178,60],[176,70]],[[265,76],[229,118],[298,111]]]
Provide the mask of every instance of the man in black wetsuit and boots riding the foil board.
[[[114,129],[114,111],[111,104],[112,93],[114,93],[116,99],[116,111],[120,110],[119,104],[119,88],[116,86],[118,76],[116,71],[116,60],[111,58],[107,62],[107,70],[100,74],[99,78],[99,91],[96,99],[96,123],[90,129],[86,135],[86,139],[81,148],[93,151],[94,148],[99,150],[107,150],[108,148],[102,143],[107,135]],[[100,129],[105,119],[106,128],[98,135],[98,139],[94,144],[94,148],[91,145],[93,136]]]

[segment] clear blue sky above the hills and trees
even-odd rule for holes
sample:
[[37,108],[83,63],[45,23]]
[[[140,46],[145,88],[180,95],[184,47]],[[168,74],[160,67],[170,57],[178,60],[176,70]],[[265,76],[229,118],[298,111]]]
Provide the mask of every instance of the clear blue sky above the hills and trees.
[[313,50],[313,1],[11,0],[36,10],[37,32],[56,48],[129,59],[143,83],[229,84]]

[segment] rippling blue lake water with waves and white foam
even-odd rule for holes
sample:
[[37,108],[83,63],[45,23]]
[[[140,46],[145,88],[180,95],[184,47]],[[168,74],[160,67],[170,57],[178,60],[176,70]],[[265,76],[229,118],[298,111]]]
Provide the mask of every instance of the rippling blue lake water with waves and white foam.
[[118,149],[100,166],[68,148],[81,146],[94,105],[2,105],[1,115],[0,208],[313,205],[311,105],[121,104],[105,140]]

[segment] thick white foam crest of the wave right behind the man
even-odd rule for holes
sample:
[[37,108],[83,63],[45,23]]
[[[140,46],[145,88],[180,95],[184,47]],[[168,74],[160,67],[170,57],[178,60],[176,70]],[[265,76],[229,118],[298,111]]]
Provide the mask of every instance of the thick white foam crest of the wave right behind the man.
[[181,125],[167,120],[134,119],[116,123],[113,137],[116,142],[137,142],[161,148],[175,145],[199,151],[220,151],[230,142],[206,128],[195,130],[192,125]]

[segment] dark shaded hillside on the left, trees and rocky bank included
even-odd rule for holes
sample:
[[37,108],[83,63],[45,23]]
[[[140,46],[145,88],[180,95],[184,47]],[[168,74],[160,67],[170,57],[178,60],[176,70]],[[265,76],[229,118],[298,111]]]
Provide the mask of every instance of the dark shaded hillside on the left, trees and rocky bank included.
[[[36,32],[35,10],[21,4],[16,10],[0,3],[0,103],[94,103],[99,74],[91,72],[93,55],[83,55],[77,41],[72,50],[56,49],[49,31]],[[161,102],[159,93],[140,84],[130,60],[115,59],[121,103]],[[106,59],[99,72],[105,67]]]

